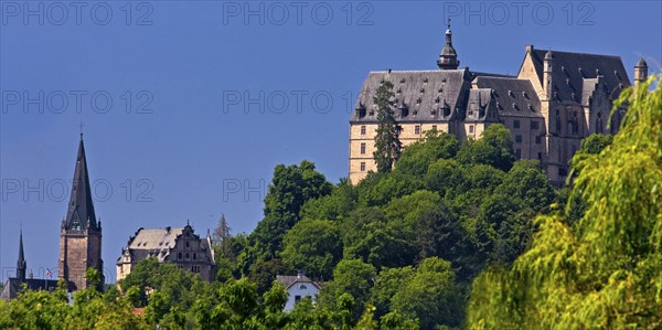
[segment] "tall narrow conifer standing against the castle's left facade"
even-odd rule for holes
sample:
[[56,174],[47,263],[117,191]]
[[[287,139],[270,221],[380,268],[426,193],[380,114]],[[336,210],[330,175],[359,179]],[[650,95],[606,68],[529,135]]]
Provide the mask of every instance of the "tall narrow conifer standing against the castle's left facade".
[[399,126],[395,121],[391,108],[393,83],[385,81],[377,88],[373,98],[377,105],[377,135],[375,136],[375,152],[373,153],[377,163],[377,172],[388,173],[393,164],[399,158],[402,143],[399,141]]

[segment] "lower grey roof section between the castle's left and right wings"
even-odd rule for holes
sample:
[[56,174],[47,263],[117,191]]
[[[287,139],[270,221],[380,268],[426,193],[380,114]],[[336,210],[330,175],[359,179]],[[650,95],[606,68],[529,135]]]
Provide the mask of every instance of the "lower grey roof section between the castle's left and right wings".
[[492,89],[493,106],[500,116],[543,117],[541,100],[527,79],[480,76],[473,83],[478,88]]

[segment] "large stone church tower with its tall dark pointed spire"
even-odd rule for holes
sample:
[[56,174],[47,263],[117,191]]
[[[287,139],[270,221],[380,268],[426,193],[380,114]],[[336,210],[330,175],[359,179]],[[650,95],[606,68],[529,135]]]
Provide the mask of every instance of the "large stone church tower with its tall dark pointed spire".
[[70,291],[84,289],[89,286],[85,272],[90,267],[98,270],[99,289],[102,289],[105,283],[102,260],[102,222],[97,221],[94,212],[85,147],[81,135],[72,196],[60,233],[58,276],[67,281]]

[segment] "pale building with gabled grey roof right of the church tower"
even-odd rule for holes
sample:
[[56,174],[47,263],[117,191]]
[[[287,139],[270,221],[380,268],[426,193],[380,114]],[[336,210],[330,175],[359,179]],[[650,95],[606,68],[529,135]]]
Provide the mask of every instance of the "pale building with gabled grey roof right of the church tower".
[[139,228],[129,238],[117,259],[117,280],[131,273],[140,260],[154,257],[160,263],[173,263],[182,269],[199,274],[203,280],[215,278],[214,249],[212,238],[201,238],[190,224],[183,228]]

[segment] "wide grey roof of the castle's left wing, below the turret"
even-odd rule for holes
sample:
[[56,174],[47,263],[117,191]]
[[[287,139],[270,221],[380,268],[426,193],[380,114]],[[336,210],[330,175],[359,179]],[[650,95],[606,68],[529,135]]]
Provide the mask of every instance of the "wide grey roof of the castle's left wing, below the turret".
[[444,71],[371,72],[354,107],[353,123],[376,121],[374,95],[383,81],[393,83],[392,99],[398,121],[447,121],[463,110],[470,87],[467,68]]

